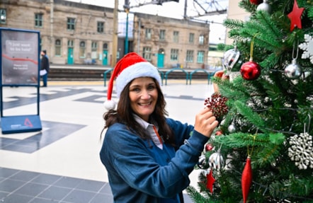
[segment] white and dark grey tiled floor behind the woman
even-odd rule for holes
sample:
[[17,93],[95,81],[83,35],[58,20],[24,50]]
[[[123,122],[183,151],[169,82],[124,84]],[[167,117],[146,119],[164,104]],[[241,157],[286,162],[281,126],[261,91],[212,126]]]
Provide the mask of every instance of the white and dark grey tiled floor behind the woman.
[[[169,116],[190,124],[212,94],[207,81],[168,81],[162,89]],[[4,116],[36,113],[36,88],[3,87],[2,93]],[[113,202],[98,156],[105,99],[101,82],[50,81],[40,88],[42,130],[0,134],[0,202]],[[190,180],[197,187],[198,171]],[[186,192],[185,202],[192,202]]]

